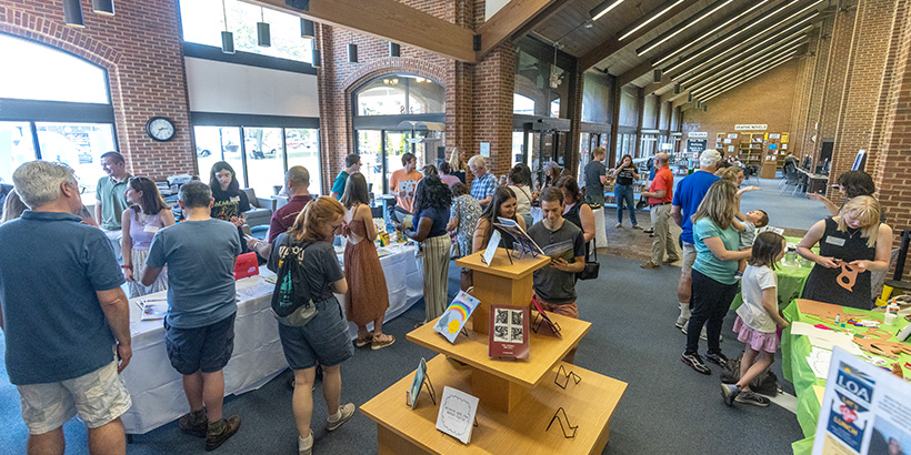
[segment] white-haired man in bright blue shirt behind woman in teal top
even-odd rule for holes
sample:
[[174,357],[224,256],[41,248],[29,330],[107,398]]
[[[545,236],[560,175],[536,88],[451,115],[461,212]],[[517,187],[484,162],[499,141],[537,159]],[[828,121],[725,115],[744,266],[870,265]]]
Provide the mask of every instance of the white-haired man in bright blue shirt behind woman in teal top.
[[690,320],[690,296],[692,295],[693,279],[690,274],[693,262],[695,261],[695,246],[693,245],[693,222],[690,219],[699,204],[702,203],[702,198],[709,191],[712,183],[718,182],[718,176],[714,171],[718,170],[718,163],[721,161],[721,153],[718,150],[710,149],[699,155],[699,169],[691,175],[683,179],[677,191],[673,193],[673,203],[671,204],[671,218],[679,226],[683,229],[680,233],[680,241],[683,246],[683,264],[680,270],[680,281],[677,284],[677,299],[680,305],[680,315],[677,317],[674,325],[685,332],[687,322]]

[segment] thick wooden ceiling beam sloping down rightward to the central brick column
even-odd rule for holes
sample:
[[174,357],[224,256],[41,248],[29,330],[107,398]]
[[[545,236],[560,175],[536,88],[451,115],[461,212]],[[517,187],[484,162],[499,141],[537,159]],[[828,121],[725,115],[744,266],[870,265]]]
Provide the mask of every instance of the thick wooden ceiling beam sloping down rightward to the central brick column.
[[396,0],[310,0],[301,11],[286,0],[242,0],[327,26],[366,33],[426,51],[475,63],[474,31]]

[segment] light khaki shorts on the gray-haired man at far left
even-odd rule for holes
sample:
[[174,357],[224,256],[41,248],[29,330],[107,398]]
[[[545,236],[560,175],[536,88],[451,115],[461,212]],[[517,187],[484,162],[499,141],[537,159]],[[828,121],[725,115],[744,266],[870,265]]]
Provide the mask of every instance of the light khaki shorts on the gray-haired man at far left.
[[22,419],[36,435],[59,428],[77,414],[86,426],[98,428],[120,417],[132,404],[117,374],[117,360],[72,380],[18,388]]

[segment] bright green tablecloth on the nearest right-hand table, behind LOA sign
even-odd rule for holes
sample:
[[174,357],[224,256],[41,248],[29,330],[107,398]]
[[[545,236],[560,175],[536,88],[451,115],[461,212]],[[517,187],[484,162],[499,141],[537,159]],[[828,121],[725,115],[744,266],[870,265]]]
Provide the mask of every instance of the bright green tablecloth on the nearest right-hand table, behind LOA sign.
[[[850,313],[864,313],[864,320],[882,321],[882,313],[874,313],[851,307],[842,307],[842,311]],[[819,320],[810,317],[800,312],[797,303],[792,302],[784,311],[784,318],[789,322],[804,322],[811,325],[820,324]],[[882,328],[892,332],[898,332],[899,328],[907,325],[908,322],[900,317],[894,327],[882,326]],[[831,326],[831,324],[825,324]],[[867,327],[855,327],[847,324],[845,328],[839,328],[850,333],[864,333]],[[895,341],[894,336],[890,341]],[[809,455],[813,449],[813,435],[817,432],[817,421],[819,419],[820,400],[813,391],[813,386],[825,387],[825,380],[821,380],[813,374],[813,370],[807,362],[807,356],[812,351],[812,343],[808,336],[791,335],[791,330],[788,328],[781,335],[781,370],[784,373],[784,378],[794,384],[794,392],[797,394],[797,417],[800,428],[803,431],[804,439],[798,441],[791,445],[794,455]],[[893,363],[887,358],[889,363]],[[911,362],[911,356],[901,355],[899,362],[904,365],[905,362]],[[911,375],[911,370],[904,368],[904,375]]]

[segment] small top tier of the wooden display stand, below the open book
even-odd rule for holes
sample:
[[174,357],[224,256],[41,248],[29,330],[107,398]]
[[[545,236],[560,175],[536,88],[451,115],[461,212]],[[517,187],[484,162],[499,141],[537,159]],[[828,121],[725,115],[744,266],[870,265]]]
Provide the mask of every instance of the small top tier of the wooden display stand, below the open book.
[[483,251],[456,260],[456,265],[471,269],[474,291],[471,293],[481,301],[481,305],[471,314],[474,332],[487,335],[489,330],[490,305],[529,306],[531,304],[532,274],[550,263],[550,257],[524,255],[512,263],[507,250],[497,249],[490,265],[482,262]]

